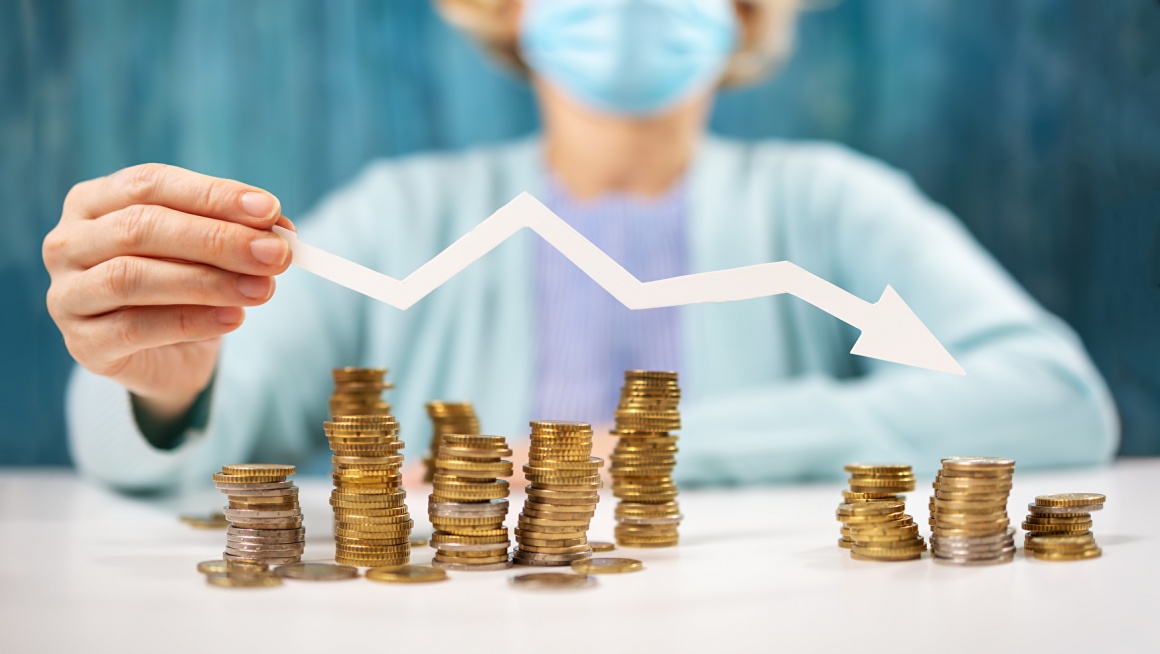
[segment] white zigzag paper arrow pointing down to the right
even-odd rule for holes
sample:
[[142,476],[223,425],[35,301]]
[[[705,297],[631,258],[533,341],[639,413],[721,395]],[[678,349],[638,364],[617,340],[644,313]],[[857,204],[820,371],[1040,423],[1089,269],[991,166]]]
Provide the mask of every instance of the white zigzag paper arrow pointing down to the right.
[[781,293],[798,297],[862,330],[853,354],[928,370],[966,375],[894,289],[870,304],[789,261],[640,282],[559,216],[527,192],[401,282],[307,245],[274,227],[290,244],[293,264],[364,296],[409,308],[524,227],[536,232],[629,308],[734,301]]

